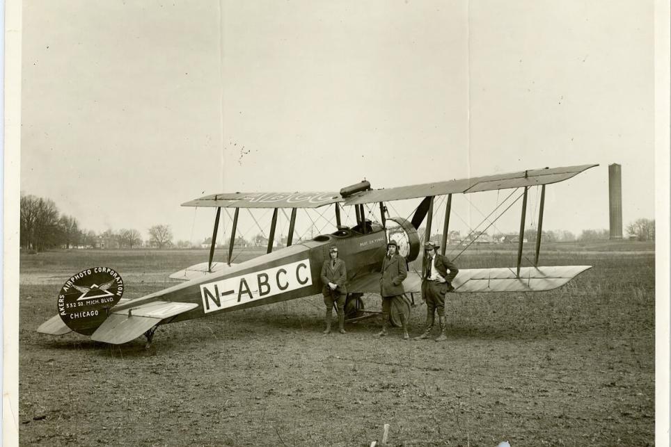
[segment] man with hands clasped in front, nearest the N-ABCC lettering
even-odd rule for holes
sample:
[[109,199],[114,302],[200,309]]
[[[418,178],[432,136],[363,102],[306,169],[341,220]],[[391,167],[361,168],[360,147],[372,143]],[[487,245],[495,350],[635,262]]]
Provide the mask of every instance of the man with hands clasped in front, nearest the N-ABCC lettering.
[[335,245],[329,249],[329,257],[322,265],[322,295],[326,304],[326,330],[324,334],[331,332],[331,315],[333,303],[336,303],[338,312],[338,330],[340,334],[345,332],[345,299],[347,298],[347,268],[345,261],[338,258],[338,247]]

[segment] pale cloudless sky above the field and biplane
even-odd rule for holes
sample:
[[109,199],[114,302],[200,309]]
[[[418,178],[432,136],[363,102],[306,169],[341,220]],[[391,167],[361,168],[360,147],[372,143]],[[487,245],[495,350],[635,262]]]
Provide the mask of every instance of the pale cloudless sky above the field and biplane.
[[[626,227],[655,213],[653,22],[652,1],[26,2],[21,189],[86,229],[202,241],[214,210],[180,204],[212,193],[599,163],[547,188],[544,229],[580,234],[608,229],[619,163]],[[450,227],[507,194],[455,197]]]

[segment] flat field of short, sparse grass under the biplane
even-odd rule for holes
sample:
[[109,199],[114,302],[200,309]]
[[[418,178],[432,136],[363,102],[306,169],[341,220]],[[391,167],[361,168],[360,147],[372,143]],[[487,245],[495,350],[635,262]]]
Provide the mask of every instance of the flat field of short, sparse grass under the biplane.
[[[391,446],[654,444],[650,246],[555,248],[542,264],[594,268],[551,292],[453,294],[443,343],[397,329],[377,339],[377,320],[322,335],[318,296],[166,325],[150,350],[144,339],[35,332],[83,268],[115,268],[134,298],[205,260],[204,250],[22,254],[20,444],[370,446],[385,423]],[[476,250],[458,263],[514,260]],[[413,308],[411,336],[425,310]]]

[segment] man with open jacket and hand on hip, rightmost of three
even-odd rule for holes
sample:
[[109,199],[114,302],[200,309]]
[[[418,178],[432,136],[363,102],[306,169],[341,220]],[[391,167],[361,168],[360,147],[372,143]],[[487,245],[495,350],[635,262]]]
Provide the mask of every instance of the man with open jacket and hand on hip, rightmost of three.
[[[434,314],[438,311],[438,318],[441,325],[441,334],[436,341],[447,340],[445,336],[445,327],[447,318],[445,317],[445,293],[455,290],[452,287],[452,279],[455,279],[459,269],[454,263],[442,254],[438,254],[438,245],[432,242],[424,244],[424,261],[422,265],[422,298],[427,303],[427,324],[424,333],[416,336],[415,340],[429,338],[432,327],[434,327]],[[450,273],[448,273],[448,270]]]

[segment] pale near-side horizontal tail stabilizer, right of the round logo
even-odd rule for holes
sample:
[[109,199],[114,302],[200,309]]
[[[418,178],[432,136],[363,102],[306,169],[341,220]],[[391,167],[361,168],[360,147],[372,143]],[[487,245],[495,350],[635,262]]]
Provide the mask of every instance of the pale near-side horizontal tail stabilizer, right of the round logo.
[[158,325],[161,320],[196,307],[198,304],[191,302],[152,301],[131,309],[113,312],[93,332],[91,339],[115,345],[126,343]]

